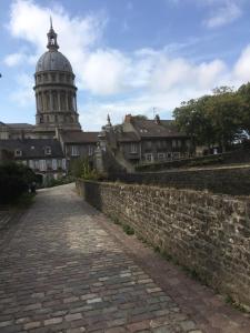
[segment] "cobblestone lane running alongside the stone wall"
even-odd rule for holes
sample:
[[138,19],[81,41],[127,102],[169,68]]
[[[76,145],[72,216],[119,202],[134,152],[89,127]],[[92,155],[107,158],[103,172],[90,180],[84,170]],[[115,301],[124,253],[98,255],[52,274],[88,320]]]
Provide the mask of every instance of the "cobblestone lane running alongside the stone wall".
[[[174,275],[72,184],[41,191],[16,226],[0,253],[1,333],[250,332],[247,316]],[[190,282],[194,303],[180,281]],[[206,300],[213,306],[207,316]]]

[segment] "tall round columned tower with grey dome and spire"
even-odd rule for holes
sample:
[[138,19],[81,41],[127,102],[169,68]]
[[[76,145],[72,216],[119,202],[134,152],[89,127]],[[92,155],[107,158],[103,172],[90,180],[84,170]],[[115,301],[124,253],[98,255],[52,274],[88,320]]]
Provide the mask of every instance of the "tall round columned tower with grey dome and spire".
[[36,67],[36,131],[53,137],[56,128],[80,130],[77,112],[77,87],[69,60],[58,51],[52,21],[47,33],[49,49]]

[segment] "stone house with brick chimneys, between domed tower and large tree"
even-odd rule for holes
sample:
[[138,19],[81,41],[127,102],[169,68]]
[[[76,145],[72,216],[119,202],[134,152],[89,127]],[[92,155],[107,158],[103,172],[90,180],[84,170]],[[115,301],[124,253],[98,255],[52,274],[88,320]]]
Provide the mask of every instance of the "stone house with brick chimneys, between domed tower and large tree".
[[123,167],[124,161],[130,164],[153,163],[188,158],[194,153],[191,138],[179,132],[173,121],[161,120],[159,115],[148,120],[127,114],[123,123],[116,127],[108,117],[101,141]]

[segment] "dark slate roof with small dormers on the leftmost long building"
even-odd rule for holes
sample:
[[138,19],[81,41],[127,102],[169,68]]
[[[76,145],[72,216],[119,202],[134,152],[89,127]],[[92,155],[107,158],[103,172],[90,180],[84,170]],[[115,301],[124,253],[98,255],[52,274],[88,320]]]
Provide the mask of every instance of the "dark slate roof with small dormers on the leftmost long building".
[[[50,147],[51,154],[44,153],[46,147]],[[0,150],[1,149],[12,152],[21,150],[22,155],[19,159],[63,158],[60,142],[54,139],[0,140]]]

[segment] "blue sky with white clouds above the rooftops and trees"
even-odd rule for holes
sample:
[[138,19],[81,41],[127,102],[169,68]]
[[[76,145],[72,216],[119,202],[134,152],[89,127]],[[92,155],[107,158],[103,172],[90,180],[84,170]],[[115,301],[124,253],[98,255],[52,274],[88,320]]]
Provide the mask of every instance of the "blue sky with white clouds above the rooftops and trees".
[[84,131],[171,119],[182,101],[250,81],[250,0],[0,0],[0,121],[34,123],[33,74],[50,24]]

